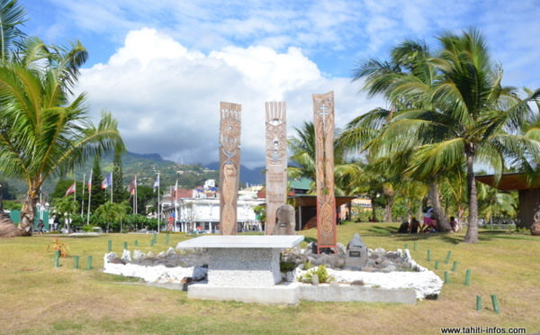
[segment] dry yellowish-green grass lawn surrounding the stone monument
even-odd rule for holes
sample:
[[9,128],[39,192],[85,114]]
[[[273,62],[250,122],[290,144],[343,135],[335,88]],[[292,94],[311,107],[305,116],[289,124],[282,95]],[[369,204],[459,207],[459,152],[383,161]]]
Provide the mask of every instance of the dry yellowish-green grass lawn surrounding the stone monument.
[[[540,238],[504,231],[480,231],[477,244],[462,243],[464,233],[401,235],[398,223],[347,223],[338,226],[346,244],[359,232],[368,248],[403,249],[433,269],[441,279],[449,272],[438,300],[416,305],[397,303],[315,303],[296,306],[197,301],[181,291],[138,280],[103,274],[108,240],[112,251],[129,249],[155,253],[187,239],[150,234],[103,234],[99,237],[60,237],[68,257],[54,267],[54,254],[45,249],[51,235],[0,240],[1,334],[440,334],[442,327],[525,327],[540,332]],[[317,231],[302,231],[314,239]],[[139,247],[134,247],[138,240]],[[417,243],[417,250],[414,243]],[[305,247],[305,242],[302,242]],[[427,250],[431,251],[428,261]],[[452,251],[446,264],[446,255]],[[79,268],[74,268],[79,256]],[[87,270],[88,256],[93,257]],[[439,268],[435,270],[435,261]],[[452,271],[457,261],[456,271]],[[470,285],[464,285],[471,270]],[[500,314],[493,311],[496,294]],[[482,311],[476,311],[476,296]]]

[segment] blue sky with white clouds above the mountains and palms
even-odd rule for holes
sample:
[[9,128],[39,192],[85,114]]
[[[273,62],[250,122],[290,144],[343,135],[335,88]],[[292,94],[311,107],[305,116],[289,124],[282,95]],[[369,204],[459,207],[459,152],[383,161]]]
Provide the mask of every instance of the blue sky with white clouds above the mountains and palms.
[[130,151],[218,160],[220,102],[242,104],[242,163],[264,165],[265,102],[286,101],[289,135],[312,94],[335,92],[336,121],[382,100],[351,82],[361,59],[405,38],[437,49],[441,32],[479,28],[504,85],[540,87],[537,0],[20,0],[25,32],[89,51],[78,89],[97,121],[120,123]]

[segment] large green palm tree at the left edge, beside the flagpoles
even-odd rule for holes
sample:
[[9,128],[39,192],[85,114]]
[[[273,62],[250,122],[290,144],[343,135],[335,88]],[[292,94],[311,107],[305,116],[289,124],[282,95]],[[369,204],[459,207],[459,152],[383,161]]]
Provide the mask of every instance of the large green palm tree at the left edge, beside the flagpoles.
[[[8,6],[5,3],[0,3],[4,5],[0,17]],[[2,25],[0,32],[6,27]],[[111,152],[116,145],[123,148],[117,122],[110,113],[103,112],[99,124],[94,125],[88,117],[85,95],[70,96],[78,68],[87,58],[80,43],[65,49],[26,38],[17,45],[20,47],[11,60],[0,64],[0,171],[6,177],[24,180],[28,191],[21,223],[15,227],[4,220],[0,236],[31,235],[34,207],[47,178],[64,176],[86,158]]]

